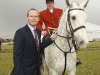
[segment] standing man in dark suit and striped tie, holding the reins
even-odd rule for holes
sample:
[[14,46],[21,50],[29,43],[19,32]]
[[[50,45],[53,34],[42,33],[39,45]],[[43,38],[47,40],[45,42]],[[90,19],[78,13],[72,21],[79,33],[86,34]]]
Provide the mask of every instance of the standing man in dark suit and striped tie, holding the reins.
[[18,29],[14,36],[14,68],[10,75],[40,75],[40,52],[57,37],[56,31],[48,40],[41,43],[41,31],[36,28],[39,21],[36,9],[27,12],[27,21],[28,24]]

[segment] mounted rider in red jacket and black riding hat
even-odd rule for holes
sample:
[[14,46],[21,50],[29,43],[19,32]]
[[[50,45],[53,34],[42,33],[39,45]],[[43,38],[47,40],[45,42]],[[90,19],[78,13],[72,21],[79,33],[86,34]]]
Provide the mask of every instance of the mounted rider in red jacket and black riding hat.
[[[48,33],[48,27],[58,28],[59,19],[63,12],[62,9],[54,7],[54,0],[46,0],[47,9],[40,12],[40,20],[37,24],[37,28],[42,31],[42,35]],[[43,23],[45,28],[43,28]]]

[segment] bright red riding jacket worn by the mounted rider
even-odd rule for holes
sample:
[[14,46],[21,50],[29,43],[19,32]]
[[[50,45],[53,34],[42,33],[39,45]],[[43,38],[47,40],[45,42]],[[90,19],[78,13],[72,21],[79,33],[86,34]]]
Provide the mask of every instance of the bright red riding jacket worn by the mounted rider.
[[[48,32],[48,27],[58,28],[59,19],[61,17],[63,10],[59,8],[54,8],[51,13],[49,9],[40,12],[40,19],[37,24],[37,28],[41,31],[45,30]],[[45,29],[42,28],[43,23],[45,24]]]

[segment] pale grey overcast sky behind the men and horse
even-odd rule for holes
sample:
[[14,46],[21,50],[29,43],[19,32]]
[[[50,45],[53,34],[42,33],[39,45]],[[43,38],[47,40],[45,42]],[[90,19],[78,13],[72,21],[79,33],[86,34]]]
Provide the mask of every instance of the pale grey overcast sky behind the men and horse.
[[[85,0],[71,0],[82,3]],[[55,7],[66,8],[65,0],[55,0]],[[15,31],[24,26],[30,8],[46,9],[45,0],[0,0],[0,37],[13,38]],[[85,12],[87,22],[100,25],[100,0],[89,0]]]

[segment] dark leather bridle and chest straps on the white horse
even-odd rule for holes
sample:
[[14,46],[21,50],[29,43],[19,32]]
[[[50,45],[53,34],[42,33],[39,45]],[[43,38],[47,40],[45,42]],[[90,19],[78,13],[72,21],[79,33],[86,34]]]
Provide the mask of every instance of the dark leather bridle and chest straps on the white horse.
[[[70,21],[70,11],[73,11],[73,10],[82,10],[82,11],[84,11],[84,9],[74,8],[74,9],[69,9],[69,10],[68,10],[67,22],[68,22],[69,29],[70,29],[70,32],[71,32],[71,37],[69,37],[68,35],[67,35],[67,36],[58,35],[59,37],[66,38],[66,40],[68,41],[69,48],[70,48],[69,51],[64,52],[64,51],[56,44],[56,42],[54,41],[54,44],[58,47],[59,50],[61,50],[61,51],[64,53],[64,56],[65,56],[65,67],[64,67],[64,71],[63,71],[62,75],[64,75],[65,70],[66,70],[66,65],[67,65],[67,64],[66,64],[66,62],[67,62],[66,57],[67,57],[67,53],[74,53],[74,52],[77,51],[77,48],[76,48],[76,41],[75,41],[75,39],[74,39],[74,32],[76,32],[76,31],[79,30],[79,29],[85,28],[85,26],[79,26],[79,27],[73,29],[73,27],[72,27],[72,25],[71,25],[71,21]],[[66,30],[67,30],[67,23],[66,23]],[[71,52],[73,46],[71,47],[71,44],[70,44],[70,42],[69,42],[70,39],[72,39],[72,44],[73,44],[73,46],[74,46],[74,48],[75,48],[75,51],[74,51],[74,52]]]

